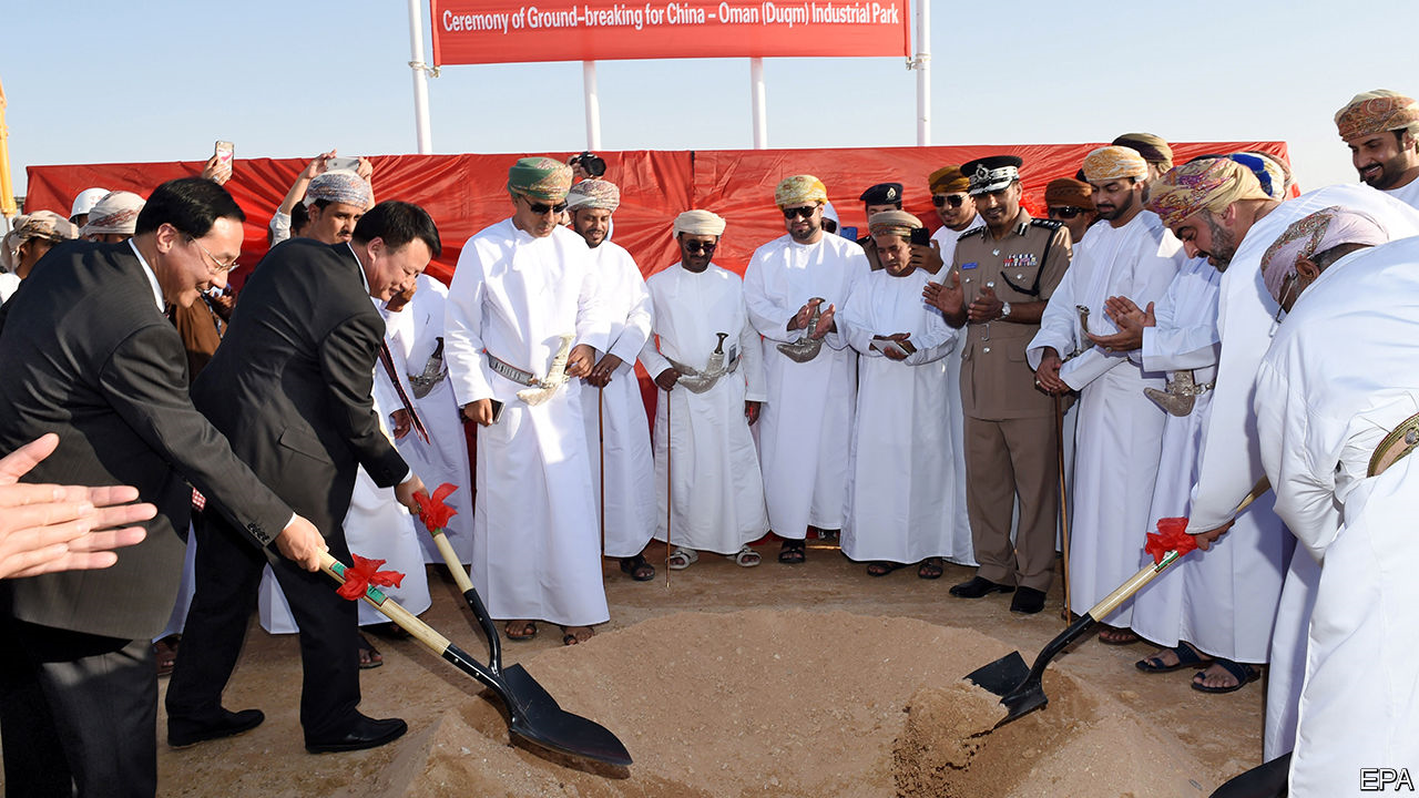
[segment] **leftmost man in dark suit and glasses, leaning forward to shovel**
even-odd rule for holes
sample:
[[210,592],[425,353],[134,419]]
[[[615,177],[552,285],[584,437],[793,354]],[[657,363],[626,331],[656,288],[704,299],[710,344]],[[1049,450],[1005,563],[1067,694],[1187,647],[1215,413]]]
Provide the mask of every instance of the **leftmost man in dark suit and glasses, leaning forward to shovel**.
[[163,315],[226,284],[241,222],[209,180],[163,183],[131,241],[55,247],[0,311],[0,450],[57,432],[58,449],[26,481],[128,483],[158,507],[148,537],[112,568],[0,584],[10,795],[156,791],[150,640],[177,594],[193,487],[245,530],[248,550],[274,540],[319,567],[321,534],[192,406],[182,339]]

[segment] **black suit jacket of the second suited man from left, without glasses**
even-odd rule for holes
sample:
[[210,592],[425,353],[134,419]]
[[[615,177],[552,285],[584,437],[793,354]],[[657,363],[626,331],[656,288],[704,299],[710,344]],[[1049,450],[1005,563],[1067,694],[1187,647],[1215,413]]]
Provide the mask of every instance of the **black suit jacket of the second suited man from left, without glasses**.
[[321,534],[341,534],[355,474],[380,487],[409,466],[370,400],[385,319],[346,244],[292,239],[241,290],[193,402],[231,447]]

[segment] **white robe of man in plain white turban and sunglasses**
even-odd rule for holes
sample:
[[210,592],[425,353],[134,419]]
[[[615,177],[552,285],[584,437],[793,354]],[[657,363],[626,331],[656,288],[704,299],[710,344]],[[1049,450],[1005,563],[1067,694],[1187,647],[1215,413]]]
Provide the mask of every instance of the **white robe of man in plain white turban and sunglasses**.
[[[748,321],[744,284],[714,264],[700,274],[675,264],[653,274],[646,288],[656,337],[646,342],[640,361],[651,376],[671,368],[667,358],[704,369],[719,332],[728,334],[725,362],[735,349],[742,358],[739,368],[710,390],[674,388],[668,400],[660,390],[656,402],[656,540],[666,540],[668,437],[668,479],[674,481],[670,544],[734,554],[769,528],[763,477],[744,416],[746,400],[765,399],[759,334]],[[667,417],[667,410],[674,415]]]

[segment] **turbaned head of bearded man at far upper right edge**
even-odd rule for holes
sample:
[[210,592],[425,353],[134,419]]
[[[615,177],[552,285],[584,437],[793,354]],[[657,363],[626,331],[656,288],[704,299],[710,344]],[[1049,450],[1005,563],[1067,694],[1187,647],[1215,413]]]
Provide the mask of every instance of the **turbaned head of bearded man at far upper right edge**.
[[1419,104],[1384,88],[1357,94],[1335,128],[1365,185],[1419,207]]

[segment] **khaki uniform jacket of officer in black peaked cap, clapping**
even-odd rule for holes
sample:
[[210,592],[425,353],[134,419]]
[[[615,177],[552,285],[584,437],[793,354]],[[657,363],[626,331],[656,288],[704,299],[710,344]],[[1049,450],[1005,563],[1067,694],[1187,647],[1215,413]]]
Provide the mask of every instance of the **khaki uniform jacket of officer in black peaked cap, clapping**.
[[[961,277],[966,307],[990,283],[1002,302],[1043,302],[1060,284],[1069,261],[1069,230],[1059,222],[1032,219],[1020,209],[1000,240],[986,226],[962,233],[951,271]],[[1034,372],[1025,361],[1025,348],[1039,329],[1039,324],[1005,319],[966,324],[961,349],[961,406],[966,416],[1005,420],[1054,413],[1054,400],[1034,389]]]

